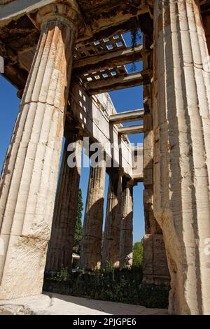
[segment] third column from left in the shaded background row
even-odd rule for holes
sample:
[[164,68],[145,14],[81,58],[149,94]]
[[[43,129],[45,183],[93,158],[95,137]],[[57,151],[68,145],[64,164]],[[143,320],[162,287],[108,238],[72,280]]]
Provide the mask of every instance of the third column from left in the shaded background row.
[[106,223],[102,250],[102,266],[120,266],[120,221],[122,176],[120,169],[111,169],[106,205]]

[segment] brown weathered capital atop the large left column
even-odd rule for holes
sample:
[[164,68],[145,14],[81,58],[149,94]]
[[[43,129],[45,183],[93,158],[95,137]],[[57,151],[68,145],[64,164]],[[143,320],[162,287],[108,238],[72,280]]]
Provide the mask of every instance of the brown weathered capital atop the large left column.
[[82,22],[82,14],[75,0],[64,3],[50,3],[38,10],[36,21],[42,27],[47,22],[59,21],[71,28],[78,30],[78,25]]

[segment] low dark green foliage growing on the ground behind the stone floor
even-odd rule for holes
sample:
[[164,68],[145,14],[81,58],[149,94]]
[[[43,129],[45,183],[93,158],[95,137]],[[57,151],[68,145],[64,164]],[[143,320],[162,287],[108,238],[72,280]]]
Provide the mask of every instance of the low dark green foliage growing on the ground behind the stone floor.
[[[62,279],[62,276],[64,279]],[[64,295],[90,297],[98,300],[166,308],[169,286],[142,283],[141,267],[98,271],[65,272],[45,278],[43,290]]]

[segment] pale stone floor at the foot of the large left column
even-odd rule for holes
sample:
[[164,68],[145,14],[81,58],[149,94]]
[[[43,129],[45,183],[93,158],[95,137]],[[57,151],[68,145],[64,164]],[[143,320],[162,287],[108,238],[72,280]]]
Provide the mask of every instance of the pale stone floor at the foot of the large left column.
[[0,300],[0,315],[167,315],[167,309],[44,293]]

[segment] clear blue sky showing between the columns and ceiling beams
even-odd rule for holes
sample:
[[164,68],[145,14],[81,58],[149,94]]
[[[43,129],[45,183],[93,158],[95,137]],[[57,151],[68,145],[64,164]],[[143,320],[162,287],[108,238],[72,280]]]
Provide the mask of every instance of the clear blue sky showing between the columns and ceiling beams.
[[[124,35],[127,45],[130,45],[130,34]],[[137,71],[141,69],[141,63],[137,64]],[[0,171],[6,155],[10,137],[13,132],[15,119],[18,115],[20,99],[16,96],[17,90],[8,81],[0,76]],[[113,104],[118,112],[132,109],[143,108],[143,89],[142,87],[132,87],[124,90],[118,90],[109,93]],[[136,123],[137,124],[137,123]],[[132,143],[142,143],[143,134],[134,134],[129,136]],[[83,168],[81,171],[80,188],[83,193],[83,202],[85,209],[85,200],[87,193],[87,184],[89,169]],[[106,210],[106,195],[109,183],[109,176],[106,175],[104,216]],[[84,213],[84,210],[83,210]],[[134,242],[139,241],[144,235],[144,209],[143,209],[143,183],[134,187]]]

